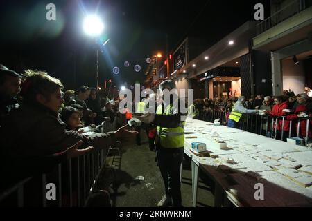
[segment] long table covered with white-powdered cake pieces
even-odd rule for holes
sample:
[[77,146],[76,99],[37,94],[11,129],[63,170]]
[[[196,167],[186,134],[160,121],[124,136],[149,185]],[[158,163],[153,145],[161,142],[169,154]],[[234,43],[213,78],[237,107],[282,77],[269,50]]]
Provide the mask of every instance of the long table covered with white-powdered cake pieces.
[[[266,186],[270,186],[269,191],[275,188],[272,187],[274,184],[274,186],[280,186],[282,190],[288,190],[287,195],[290,195],[290,198],[293,197],[293,193],[299,193],[304,198],[312,199],[312,151],[310,148],[288,144],[227,126],[214,126],[209,122],[196,119],[187,119],[184,133],[186,133],[184,153],[191,157],[193,206],[196,206],[197,201],[198,168],[205,171],[215,181],[215,206],[222,204],[222,194],[225,194],[227,200],[235,206],[243,206],[236,193],[224,189],[225,185],[220,184],[221,178],[218,177],[218,173],[213,171],[214,169],[217,171],[220,165],[228,166],[242,174],[248,171],[257,173],[259,177],[267,181]],[[225,140],[228,149],[221,150],[214,141],[215,138]],[[194,154],[191,151],[192,142],[205,143],[209,157],[199,157]],[[235,164],[227,163],[229,159],[234,160]],[[238,180],[241,179],[236,175],[230,176]],[[232,189],[243,191],[242,186],[232,186]],[[297,198],[297,195],[294,198]],[[303,202],[305,203],[305,201]],[[281,206],[290,204],[290,202],[285,202],[285,204],[277,202],[277,205],[279,203]],[[257,202],[254,204],[258,205]],[[266,206],[266,204],[260,205]]]

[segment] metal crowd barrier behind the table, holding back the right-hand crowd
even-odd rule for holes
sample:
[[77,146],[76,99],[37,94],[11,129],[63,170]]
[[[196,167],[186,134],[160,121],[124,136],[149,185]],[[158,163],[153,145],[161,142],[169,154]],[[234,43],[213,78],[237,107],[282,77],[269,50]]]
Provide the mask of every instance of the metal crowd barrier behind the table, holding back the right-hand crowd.
[[[225,111],[198,111],[195,118],[206,122],[214,122],[214,120],[219,119],[221,125],[226,125],[226,114]],[[271,137],[275,140],[286,141],[286,138],[299,137],[304,140],[305,144],[308,144],[311,139],[309,132],[310,134],[312,132],[310,122],[310,118],[299,118],[289,121],[285,116],[271,117],[270,115],[249,114],[244,116],[242,129],[250,133]],[[301,125],[304,123],[306,124],[306,131],[305,135],[302,135]],[[277,124],[281,124],[281,131],[277,131]],[[284,130],[286,124],[289,124],[289,130],[287,131]]]

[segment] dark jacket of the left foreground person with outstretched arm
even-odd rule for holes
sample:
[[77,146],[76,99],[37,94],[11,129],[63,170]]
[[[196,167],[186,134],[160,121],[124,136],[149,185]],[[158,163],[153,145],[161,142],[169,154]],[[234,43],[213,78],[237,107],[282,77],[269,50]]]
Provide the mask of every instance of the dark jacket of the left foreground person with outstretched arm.
[[66,124],[58,114],[40,104],[21,106],[12,111],[1,130],[0,146],[7,155],[17,157],[35,157],[51,155],[65,151],[82,140],[85,148],[108,148],[115,141],[114,134],[98,134],[86,137],[75,131],[67,131]]

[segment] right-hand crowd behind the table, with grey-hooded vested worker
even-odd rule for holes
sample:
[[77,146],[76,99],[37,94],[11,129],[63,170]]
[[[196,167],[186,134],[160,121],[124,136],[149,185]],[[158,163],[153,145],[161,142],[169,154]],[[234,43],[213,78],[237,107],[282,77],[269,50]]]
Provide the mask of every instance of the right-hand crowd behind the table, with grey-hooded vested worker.
[[[262,115],[268,115],[271,117],[284,117],[284,125],[281,119],[277,119],[277,139],[281,139],[281,131],[290,130],[290,121],[300,120],[300,137],[306,136],[306,119],[312,117],[312,99],[309,88],[305,88],[304,93],[295,95],[293,91],[284,90],[281,96],[266,96],[257,95],[256,97],[250,97],[245,99],[241,96],[239,98],[220,98],[215,99],[196,99],[194,101],[196,119],[202,119],[203,113],[212,111],[224,111],[225,112],[225,125],[242,128],[243,122],[245,122],[245,116],[243,114],[261,113]],[[233,108],[235,106],[235,110]],[[232,113],[232,116],[231,116]],[[235,116],[234,116],[235,115]],[[311,121],[309,122],[311,124]],[[274,125],[269,125],[275,129]],[[297,124],[292,125],[297,128]],[[295,127],[296,126],[296,127]],[[263,131],[265,128],[263,128]],[[296,136],[296,129],[292,130],[292,136]],[[282,140],[286,141],[288,133],[284,133]],[[312,137],[311,126],[309,126],[308,132],[309,138]]]

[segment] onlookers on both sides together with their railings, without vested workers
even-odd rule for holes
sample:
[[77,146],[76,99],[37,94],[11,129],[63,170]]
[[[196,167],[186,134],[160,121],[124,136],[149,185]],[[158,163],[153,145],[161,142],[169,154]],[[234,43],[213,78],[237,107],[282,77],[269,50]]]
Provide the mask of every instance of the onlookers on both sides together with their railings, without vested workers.
[[[0,206],[110,206],[108,191],[97,189],[99,175],[110,153],[120,155],[121,141],[137,135],[123,126],[131,114],[119,112],[119,97],[87,86],[63,93],[60,80],[40,71],[0,71]],[[309,146],[310,94],[306,88],[299,95],[250,97],[243,105],[257,113],[243,115],[240,128]],[[226,126],[235,102],[195,99],[193,117]],[[155,128],[146,132],[153,137]]]

